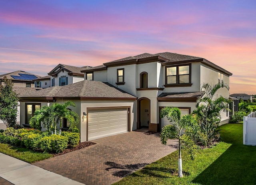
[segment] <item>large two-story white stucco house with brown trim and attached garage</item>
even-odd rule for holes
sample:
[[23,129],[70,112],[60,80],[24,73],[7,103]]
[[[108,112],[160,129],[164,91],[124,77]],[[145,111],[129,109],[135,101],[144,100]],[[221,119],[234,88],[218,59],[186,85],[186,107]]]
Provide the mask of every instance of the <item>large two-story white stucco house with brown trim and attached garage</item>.
[[[57,67],[53,72],[62,72],[62,66]],[[78,123],[81,141],[142,127],[160,131],[169,124],[166,118],[159,116],[163,107],[179,107],[182,114],[191,113],[202,95],[203,83],[229,85],[232,75],[204,58],[170,52],[144,53],[81,72],[83,82],[46,88],[21,97],[20,106],[24,107],[21,123],[28,122],[25,117],[28,105],[73,100],[77,107],[71,109],[81,118]],[[229,97],[229,91],[221,88],[216,97],[220,95]],[[229,113],[221,112],[221,115],[221,123],[228,123]]]

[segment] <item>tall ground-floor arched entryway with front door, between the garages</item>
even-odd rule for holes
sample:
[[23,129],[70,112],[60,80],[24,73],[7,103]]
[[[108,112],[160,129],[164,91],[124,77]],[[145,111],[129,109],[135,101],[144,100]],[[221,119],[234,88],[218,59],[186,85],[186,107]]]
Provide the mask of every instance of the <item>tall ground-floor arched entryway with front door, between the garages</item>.
[[150,124],[150,99],[141,97],[138,99],[137,129],[148,128]]

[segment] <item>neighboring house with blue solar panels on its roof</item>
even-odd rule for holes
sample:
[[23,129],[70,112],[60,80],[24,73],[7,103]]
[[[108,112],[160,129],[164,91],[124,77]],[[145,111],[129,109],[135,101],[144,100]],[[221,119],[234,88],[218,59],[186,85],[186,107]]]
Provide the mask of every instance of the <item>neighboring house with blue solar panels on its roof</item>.
[[7,74],[0,75],[0,84],[2,83],[4,76],[8,79],[11,79],[14,83],[14,87],[27,87],[27,88],[34,88],[33,80],[36,78],[40,78],[40,76],[24,72],[24,71],[15,71]]

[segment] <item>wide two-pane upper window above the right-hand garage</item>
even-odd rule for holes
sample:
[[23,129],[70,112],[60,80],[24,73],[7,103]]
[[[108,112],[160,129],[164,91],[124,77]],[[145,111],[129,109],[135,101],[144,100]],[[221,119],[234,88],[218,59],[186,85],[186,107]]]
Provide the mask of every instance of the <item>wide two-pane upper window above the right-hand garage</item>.
[[166,85],[190,84],[191,64],[166,67]]

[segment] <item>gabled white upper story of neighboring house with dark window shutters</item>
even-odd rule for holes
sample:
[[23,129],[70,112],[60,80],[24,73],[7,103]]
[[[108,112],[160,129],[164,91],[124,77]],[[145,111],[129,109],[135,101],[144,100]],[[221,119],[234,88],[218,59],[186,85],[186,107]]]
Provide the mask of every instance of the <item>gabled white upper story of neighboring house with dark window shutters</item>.
[[51,87],[66,86],[84,80],[84,73],[81,70],[86,70],[90,66],[76,67],[66,64],[59,64],[48,73],[50,77]]

